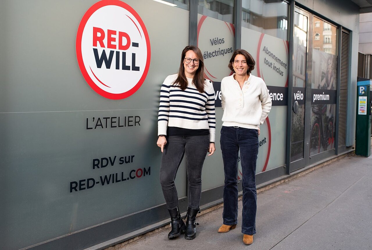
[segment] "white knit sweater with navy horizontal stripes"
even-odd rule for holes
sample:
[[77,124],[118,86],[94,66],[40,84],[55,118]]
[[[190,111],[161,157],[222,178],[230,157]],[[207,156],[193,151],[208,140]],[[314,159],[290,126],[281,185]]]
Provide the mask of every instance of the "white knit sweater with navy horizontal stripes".
[[209,129],[209,141],[215,141],[216,115],[214,89],[205,80],[204,92],[200,93],[187,78],[185,90],[174,86],[178,74],[167,76],[160,89],[158,135],[167,134],[167,126],[186,129]]

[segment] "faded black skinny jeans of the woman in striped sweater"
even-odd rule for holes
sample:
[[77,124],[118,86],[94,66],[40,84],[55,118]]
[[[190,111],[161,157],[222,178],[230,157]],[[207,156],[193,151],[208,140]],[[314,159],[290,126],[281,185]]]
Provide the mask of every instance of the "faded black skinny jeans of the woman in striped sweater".
[[167,208],[178,206],[174,179],[183,156],[186,155],[189,207],[198,209],[202,193],[202,167],[209,149],[209,135],[167,137],[160,166],[160,184]]

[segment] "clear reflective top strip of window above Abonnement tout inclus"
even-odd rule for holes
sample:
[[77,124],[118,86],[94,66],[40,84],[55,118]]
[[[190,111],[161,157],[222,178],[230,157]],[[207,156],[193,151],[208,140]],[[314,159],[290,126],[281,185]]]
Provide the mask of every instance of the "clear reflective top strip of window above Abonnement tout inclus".
[[287,40],[288,4],[280,0],[243,0],[241,26]]

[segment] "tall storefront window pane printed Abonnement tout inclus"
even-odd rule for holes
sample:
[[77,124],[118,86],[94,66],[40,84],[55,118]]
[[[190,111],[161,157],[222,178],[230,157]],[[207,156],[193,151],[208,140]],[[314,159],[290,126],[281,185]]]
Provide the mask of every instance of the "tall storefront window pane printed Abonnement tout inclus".
[[272,97],[272,109],[260,126],[256,174],[285,164],[288,8],[280,0],[242,1],[241,48],[256,61],[252,74],[265,81]]

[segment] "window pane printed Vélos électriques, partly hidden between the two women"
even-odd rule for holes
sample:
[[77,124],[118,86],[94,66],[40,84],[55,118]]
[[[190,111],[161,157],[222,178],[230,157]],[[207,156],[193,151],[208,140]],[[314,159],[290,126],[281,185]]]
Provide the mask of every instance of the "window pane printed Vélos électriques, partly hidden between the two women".
[[[199,0],[198,5],[198,41],[204,59],[204,77],[213,82],[216,94],[216,131],[221,130],[221,80],[231,74],[227,67],[235,50],[235,26],[233,23],[234,0]],[[219,148],[219,133],[216,133],[216,147]],[[223,168],[216,169],[221,164],[221,151],[216,151],[214,157],[208,157],[203,166],[203,190],[215,188],[224,183]],[[213,178],[211,178],[213,176]]]

